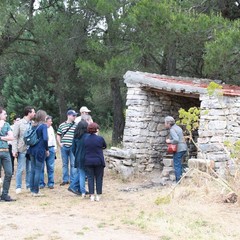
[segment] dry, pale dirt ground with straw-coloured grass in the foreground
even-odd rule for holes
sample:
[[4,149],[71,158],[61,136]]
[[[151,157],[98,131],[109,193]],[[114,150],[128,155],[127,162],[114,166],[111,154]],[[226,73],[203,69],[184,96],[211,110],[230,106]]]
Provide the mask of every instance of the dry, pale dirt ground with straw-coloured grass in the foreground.
[[[176,187],[152,186],[158,173],[128,182],[105,171],[100,202],[81,199],[60,187],[60,160],[53,190],[34,198],[26,190],[1,202],[0,239],[177,240],[240,239],[238,204],[221,201],[221,187],[211,180],[189,178]],[[156,204],[158,203],[158,204]]]

